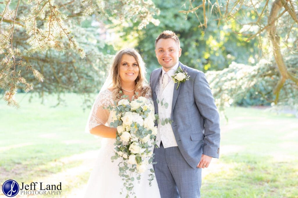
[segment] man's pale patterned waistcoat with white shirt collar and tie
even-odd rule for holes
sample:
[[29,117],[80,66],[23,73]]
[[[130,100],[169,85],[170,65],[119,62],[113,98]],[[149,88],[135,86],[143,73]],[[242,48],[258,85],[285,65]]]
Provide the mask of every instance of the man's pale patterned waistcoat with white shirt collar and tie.
[[[172,129],[172,125],[170,123],[167,123],[165,125],[161,124],[162,119],[165,120],[166,118],[170,119],[172,114],[172,102],[173,102],[173,93],[174,93],[174,80],[172,76],[175,74],[176,70],[178,69],[179,62],[176,63],[174,67],[172,67],[169,71],[165,72],[164,68],[162,68],[162,76],[159,78],[159,84],[156,86],[156,96],[159,100],[158,105],[158,115],[159,115],[159,125],[157,127],[157,145],[160,146],[160,141],[162,141],[163,147],[175,147],[178,146],[176,142],[176,138]],[[163,89],[162,80],[164,74],[167,73],[167,75],[170,77],[168,78],[168,84]],[[163,103],[168,103],[168,107],[165,108],[165,106],[161,105],[161,101],[163,100]]]

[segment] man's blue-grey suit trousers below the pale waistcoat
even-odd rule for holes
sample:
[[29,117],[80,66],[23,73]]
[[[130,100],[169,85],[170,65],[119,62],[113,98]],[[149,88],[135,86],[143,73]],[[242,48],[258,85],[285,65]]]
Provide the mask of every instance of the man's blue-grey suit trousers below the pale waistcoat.
[[[192,168],[178,147],[154,149],[153,168],[161,198],[199,198],[202,169]],[[199,163],[199,162],[198,162]]]

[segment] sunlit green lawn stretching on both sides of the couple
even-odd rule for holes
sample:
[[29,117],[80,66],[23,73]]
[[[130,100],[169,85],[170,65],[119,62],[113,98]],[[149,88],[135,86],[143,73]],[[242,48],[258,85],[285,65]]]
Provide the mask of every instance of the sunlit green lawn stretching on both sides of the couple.
[[[89,110],[75,94],[65,96],[68,106],[56,108],[55,96],[44,105],[29,97],[17,94],[18,110],[0,100],[1,186],[7,179],[62,182],[61,197],[75,197],[100,148],[100,139],[84,133]],[[203,170],[202,197],[298,197],[298,119],[240,107],[226,114],[220,159]]]

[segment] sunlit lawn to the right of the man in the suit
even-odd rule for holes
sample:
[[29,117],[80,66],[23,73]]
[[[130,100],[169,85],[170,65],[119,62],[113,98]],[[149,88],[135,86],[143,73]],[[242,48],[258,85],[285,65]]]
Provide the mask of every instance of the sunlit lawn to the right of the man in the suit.
[[298,197],[298,120],[254,108],[227,109],[221,156],[202,180],[204,197]]

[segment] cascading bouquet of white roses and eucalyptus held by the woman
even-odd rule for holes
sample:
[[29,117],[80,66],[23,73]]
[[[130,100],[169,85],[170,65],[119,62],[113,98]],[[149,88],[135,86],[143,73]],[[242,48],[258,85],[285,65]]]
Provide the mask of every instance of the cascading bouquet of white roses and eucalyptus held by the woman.
[[[148,170],[149,164],[153,164],[153,148],[156,144],[154,139],[157,134],[154,122],[157,115],[154,114],[153,104],[145,97],[132,101],[122,99],[115,102],[113,107],[109,106],[109,109],[114,117],[114,122],[110,125],[117,127],[115,155],[111,160],[122,158],[122,162],[118,165],[119,176],[122,177],[123,186],[129,192],[134,188],[132,182],[135,178],[132,173],[134,172],[136,179],[140,180],[141,173]],[[151,186],[154,170],[150,169],[150,172],[148,180]]]

